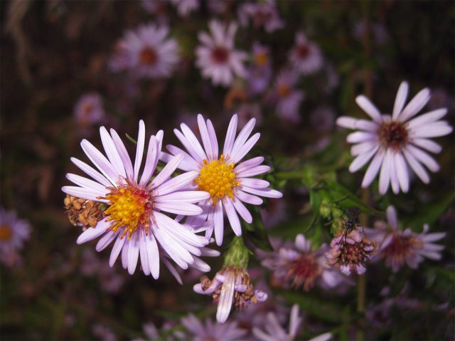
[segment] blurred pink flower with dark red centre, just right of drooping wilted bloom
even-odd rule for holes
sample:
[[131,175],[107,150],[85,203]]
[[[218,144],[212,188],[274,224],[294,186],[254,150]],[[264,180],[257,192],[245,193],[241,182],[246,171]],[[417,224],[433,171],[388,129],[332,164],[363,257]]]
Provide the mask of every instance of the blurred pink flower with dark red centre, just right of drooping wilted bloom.
[[269,253],[262,261],[262,266],[274,271],[276,280],[284,285],[310,290],[320,282],[322,286],[334,288],[343,282],[342,276],[332,270],[323,257],[327,247],[322,246],[311,251],[311,243],[302,234],[296,236],[295,248],[282,247],[277,252]]

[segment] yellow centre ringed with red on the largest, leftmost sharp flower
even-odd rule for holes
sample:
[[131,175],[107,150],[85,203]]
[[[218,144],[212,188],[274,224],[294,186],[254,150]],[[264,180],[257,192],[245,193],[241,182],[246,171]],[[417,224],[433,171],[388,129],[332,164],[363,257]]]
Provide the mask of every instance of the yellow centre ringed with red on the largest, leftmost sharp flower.
[[105,198],[109,200],[109,207],[103,212],[112,221],[109,229],[117,231],[124,227],[122,238],[128,234],[128,239],[137,229],[144,229],[149,233],[150,220],[153,219],[154,198],[146,189],[137,187],[137,184],[122,184],[119,187],[109,187]]

